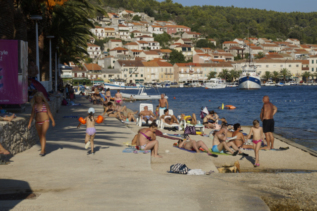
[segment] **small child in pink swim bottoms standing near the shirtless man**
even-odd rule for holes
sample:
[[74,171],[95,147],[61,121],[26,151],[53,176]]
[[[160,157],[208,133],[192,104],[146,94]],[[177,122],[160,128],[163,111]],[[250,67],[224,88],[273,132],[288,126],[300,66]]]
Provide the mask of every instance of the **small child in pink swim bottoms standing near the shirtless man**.
[[251,127],[251,130],[247,139],[250,139],[252,134],[253,134],[252,144],[253,144],[253,149],[256,156],[256,162],[254,163],[253,166],[259,167],[260,166],[259,150],[261,148],[262,140],[264,140],[264,135],[263,135],[263,128],[260,127],[260,122],[258,119],[253,121],[253,127]]

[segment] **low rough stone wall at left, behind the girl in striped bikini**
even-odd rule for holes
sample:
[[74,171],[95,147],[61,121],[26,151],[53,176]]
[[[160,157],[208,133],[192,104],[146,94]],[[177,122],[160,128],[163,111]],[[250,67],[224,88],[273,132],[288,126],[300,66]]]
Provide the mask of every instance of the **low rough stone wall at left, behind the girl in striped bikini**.
[[[50,96],[50,99],[51,112],[55,116],[61,107],[62,98]],[[7,156],[0,154],[0,159],[10,158],[12,155],[26,151],[39,141],[39,135],[35,128],[35,120],[33,120],[31,128],[28,129],[31,109],[31,104],[27,103],[25,111],[22,113],[15,112],[17,118],[14,118],[11,122],[0,121],[0,144],[11,153]],[[8,111],[14,112],[11,110]]]

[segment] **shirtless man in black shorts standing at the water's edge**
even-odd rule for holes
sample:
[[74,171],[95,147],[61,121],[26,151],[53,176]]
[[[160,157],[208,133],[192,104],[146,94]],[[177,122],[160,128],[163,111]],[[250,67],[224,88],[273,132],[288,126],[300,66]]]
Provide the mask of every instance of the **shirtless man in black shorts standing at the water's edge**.
[[265,135],[266,143],[267,143],[267,149],[274,149],[274,119],[273,116],[277,111],[277,107],[274,106],[272,103],[269,102],[269,97],[264,96],[262,99],[262,102],[264,103],[262,109],[260,118],[263,122],[263,132]]

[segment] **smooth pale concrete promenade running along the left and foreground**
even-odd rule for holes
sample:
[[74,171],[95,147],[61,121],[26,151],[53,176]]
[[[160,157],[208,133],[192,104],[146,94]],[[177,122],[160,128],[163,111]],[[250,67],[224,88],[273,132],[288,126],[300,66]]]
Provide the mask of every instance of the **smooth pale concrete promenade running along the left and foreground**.
[[56,126],[50,125],[45,157],[39,156],[38,143],[0,166],[0,194],[36,194],[34,199],[0,201],[0,210],[269,210],[248,186],[212,174],[157,173],[150,154],[122,153],[122,143],[135,133],[114,118],[96,124],[96,154],[90,155],[90,148],[84,148],[86,125],[78,129],[77,118],[62,117],[85,117],[91,106],[100,115],[103,107],[81,96],[75,102],[83,106],[63,106]]

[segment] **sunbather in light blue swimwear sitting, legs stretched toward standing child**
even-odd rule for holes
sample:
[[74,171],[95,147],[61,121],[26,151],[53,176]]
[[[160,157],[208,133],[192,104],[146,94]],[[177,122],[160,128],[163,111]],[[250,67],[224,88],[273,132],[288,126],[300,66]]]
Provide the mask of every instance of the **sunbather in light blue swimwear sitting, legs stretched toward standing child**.
[[[221,125],[221,129],[214,133],[212,141],[212,152],[223,153],[223,148],[231,153],[233,156],[236,156],[238,153],[240,156],[249,156],[248,154],[242,153],[239,148],[233,142],[226,142],[227,139],[228,127],[225,124]],[[230,150],[232,147],[235,152]]]

